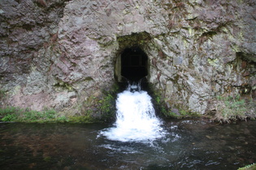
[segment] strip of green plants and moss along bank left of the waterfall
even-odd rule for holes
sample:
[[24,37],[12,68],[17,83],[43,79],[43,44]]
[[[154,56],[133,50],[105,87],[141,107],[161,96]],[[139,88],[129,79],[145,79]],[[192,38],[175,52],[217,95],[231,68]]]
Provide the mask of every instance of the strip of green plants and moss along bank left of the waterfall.
[[[58,84],[67,87],[67,84]],[[106,88],[107,89],[107,88]],[[112,121],[115,118],[115,98],[119,92],[119,86],[114,84],[111,90],[102,90],[101,96],[90,96],[83,104],[80,104],[80,116],[65,117],[56,113],[54,109],[35,111],[30,108],[6,107],[0,108],[0,121],[15,122],[74,122],[93,123],[99,121]],[[2,93],[1,93],[2,94]]]

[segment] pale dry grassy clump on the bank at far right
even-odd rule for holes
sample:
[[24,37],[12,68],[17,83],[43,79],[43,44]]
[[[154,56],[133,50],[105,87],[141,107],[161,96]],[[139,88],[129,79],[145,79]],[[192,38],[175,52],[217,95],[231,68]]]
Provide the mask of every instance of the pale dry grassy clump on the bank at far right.
[[230,123],[236,120],[246,120],[246,118],[254,118],[254,103],[252,101],[245,102],[241,96],[216,97],[214,120],[220,123]]

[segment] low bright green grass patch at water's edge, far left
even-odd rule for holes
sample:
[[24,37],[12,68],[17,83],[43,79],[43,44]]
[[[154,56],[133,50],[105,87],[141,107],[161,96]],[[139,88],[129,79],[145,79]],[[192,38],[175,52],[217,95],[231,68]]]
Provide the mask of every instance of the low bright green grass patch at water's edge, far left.
[[53,109],[46,109],[38,112],[28,108],[7,107],[0,108],[1,121],[17,121],[17,122],[66,122],[66,117],[58,117]]

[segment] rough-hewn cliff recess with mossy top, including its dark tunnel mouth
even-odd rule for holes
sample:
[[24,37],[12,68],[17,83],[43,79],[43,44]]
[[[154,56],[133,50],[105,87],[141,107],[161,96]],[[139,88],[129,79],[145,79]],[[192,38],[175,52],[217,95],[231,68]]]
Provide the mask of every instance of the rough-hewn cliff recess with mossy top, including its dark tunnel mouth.
[[119,83],[127,79],[137,81],[150,74],[150,57],[145,53],[145,47],[151,36],[147,32],[132,33],[119,36],[119,50],[115,60],[115,80]]

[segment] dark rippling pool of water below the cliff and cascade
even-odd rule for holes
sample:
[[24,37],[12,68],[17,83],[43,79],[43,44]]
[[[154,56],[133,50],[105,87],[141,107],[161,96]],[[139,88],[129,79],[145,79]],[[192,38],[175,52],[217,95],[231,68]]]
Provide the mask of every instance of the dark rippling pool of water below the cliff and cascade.
[[237,169],[256,162],[256,121],[165,121],[154,142],[115,142],[104,124],[0,123],[0,169]]

